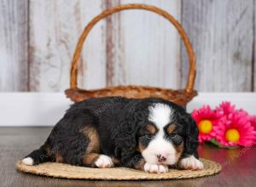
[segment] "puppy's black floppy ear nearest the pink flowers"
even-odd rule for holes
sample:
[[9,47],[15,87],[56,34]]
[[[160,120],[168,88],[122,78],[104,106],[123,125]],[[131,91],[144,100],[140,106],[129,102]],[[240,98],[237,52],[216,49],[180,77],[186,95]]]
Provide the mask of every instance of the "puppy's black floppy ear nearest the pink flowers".
[[185,113],[182,117],[185,124],[185,149],[183,151],[184,156],[195,156],[198,158],[197,146],[198,146],[198,128],[195,120],[188,113]]

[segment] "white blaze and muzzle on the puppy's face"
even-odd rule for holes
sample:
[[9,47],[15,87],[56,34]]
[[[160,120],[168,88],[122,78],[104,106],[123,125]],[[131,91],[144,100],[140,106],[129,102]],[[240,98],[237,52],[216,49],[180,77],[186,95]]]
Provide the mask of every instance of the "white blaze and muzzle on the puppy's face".
[[142,151],[142,155],[148,163],[160,164],[158,155],[166,157],[166,161],[161,164],[172,165],[177,162],[176,150],[173,144],[165,139],[164,127],[172,122],[173,111],[168,105],[155,104],[148,108],[148,120],[154,122],[158,128],[154,139],[151,139],[147,148]]

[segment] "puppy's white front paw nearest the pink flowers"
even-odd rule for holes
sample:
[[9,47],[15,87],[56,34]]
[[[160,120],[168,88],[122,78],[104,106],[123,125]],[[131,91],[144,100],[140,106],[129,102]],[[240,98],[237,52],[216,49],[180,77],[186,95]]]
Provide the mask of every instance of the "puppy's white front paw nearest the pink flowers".
[[201,170],[204,168],[204,164],[196,159],[195,156],[189,156],[179,161],[178,167],[182,169]]

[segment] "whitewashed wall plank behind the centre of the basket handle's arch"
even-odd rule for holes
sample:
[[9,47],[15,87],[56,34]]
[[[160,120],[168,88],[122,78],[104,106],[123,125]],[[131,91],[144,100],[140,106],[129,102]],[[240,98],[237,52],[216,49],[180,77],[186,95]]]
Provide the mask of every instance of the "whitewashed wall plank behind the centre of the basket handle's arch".
[[[108,7],[124,3],[155,5],[180,19],[177,0],[108,1]],[[167,20],[145,10],[127,10],[109,17],[107,33],[108,85],[177,88],[179,36]]]

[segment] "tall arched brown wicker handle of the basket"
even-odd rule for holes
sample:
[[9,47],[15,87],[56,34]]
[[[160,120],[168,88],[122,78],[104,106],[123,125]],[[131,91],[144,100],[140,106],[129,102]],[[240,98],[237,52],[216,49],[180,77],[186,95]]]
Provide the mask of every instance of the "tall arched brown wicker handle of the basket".
[[99,20],[102,20],[103,18],[107,17],[110,14],[120,12],[125,9],[144,9],[151,12],[154,12],[156,14],[160,14],[166,20],[169,20],[173,26],[177,28],[177,31],[181,38],[183,39],[183,43],[185,45],[185,48],[187,50],[187,53],[189,54],[189,76],[188,81],[185,90],[188,93],[191,93],[194,88],[195,84],[195,52],[192,48],[191,43],[189,42],[189,37],[183,30],[183,27],[175,20],[174,17],[172,17],[171,14],[168,14],[165,10],[151,6],[146,4],[125,4],[125,5],[119,5],[116,7],[108,8],[107,10],[103,11],[102,14],[98,14],[93,20],[90,20],[89,24],[84,28],[83,33],[79,37],[79,42],[77,43],[77,46],[75,48],[75,52],[73,54],[73,60],[72,60],[72,66],[70,71],[70,87],[73,89],[78,88],[78,61],[81,54],[81,50],[83,48],[84,41],[86,37],[88,36],[90,30],[93,28],[93,26],[96,25],[96,23]]

